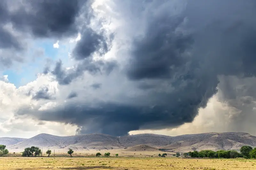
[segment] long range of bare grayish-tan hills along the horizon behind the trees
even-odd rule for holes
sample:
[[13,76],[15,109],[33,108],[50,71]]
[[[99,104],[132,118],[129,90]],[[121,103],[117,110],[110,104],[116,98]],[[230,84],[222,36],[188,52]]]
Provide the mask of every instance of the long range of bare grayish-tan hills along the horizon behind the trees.
[[[1,138],[0,138],[1,139]],[[8,141],[8,142],[4,142]],[[16,141],[16,142],[15,142]],[[239,150],[243,145],[256,147],[256,137],[243,132],[202,133],[180,135],[176,137],[138,134],[123,137],[113,137],[106,134],[85,134],[59,137],[49,134],[39,134],[29,139],[8,138],[0,140],[8,149],[23,150],[26,147],[74,150],[110,150],[124,149],[141,150],[143,146],[150,150],[163,149],[164,152],[188,152],[193,150]],[[140,146],[142,147],[140,148]],[[135,149],[137,148],[137,149]],[[144,148],[145,149],[145,148]]]

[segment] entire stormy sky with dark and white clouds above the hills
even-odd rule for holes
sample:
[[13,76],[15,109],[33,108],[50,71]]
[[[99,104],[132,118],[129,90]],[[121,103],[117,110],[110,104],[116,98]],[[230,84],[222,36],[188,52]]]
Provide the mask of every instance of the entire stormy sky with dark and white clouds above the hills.
[[1,0],[0,137],[256,135],[254,0]]

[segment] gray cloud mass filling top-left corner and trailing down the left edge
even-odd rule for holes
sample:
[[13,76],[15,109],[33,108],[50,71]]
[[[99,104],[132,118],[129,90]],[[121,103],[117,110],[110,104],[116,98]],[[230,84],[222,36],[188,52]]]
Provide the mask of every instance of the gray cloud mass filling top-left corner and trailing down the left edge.
[[[90,20],[92,1],[87,0],[2,0],[0,2],[0,62],[3,66],[12,65],[17,60],[16,54],[26,50],[25,40],[34,38],[62,38],[77,35],[79,26],[78,16],[83,12],[83,22]],[[86,7],[86,8],[84,8]],[[81,9],[83,8],[83,11]],[[14,10],[15,9],[15,10]],[[15,32],[23,37],[16,37],[5,28],[11,24]],[[24,56],[23,56],[24,58]]]

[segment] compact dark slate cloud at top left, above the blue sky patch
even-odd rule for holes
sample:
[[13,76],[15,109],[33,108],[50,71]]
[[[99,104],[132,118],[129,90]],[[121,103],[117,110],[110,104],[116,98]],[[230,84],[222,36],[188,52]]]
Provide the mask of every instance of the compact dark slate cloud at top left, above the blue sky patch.
[[[76,17],[86,0],[26,0],[10,20],[17,29],[36,37],[61,37],[77,33]],[[29,5],[29,9],[26,7]]]

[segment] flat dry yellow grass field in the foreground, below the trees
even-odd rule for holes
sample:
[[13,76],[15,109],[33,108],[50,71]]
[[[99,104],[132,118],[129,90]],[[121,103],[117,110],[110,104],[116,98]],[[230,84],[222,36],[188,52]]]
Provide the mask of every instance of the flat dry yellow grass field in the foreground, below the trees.
[[256,160],[246,159],[181,159],[181,158],[0,158],[0,169],[68,169],[68,170],[155,170],[208,169],[251,170]]

